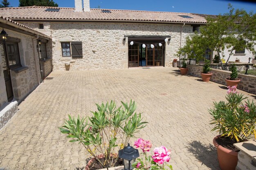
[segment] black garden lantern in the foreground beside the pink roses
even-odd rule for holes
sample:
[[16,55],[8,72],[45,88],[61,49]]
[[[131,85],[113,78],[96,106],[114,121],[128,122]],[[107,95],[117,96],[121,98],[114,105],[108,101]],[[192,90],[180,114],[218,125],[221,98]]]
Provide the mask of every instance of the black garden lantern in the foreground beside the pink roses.
[[128,146],[118,151],[119,158],[124,160],[124,170],[132,170],[132,163],[139,157],[139,151],[128,143]]

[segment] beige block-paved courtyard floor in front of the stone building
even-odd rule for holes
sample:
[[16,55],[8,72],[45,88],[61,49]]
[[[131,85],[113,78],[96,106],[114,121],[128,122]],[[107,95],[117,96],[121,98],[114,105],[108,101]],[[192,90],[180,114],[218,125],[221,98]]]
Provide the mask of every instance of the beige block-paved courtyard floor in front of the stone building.
[[0,169],[83,169],[90,155],[61,134],[63,120],[91,115],[95,103],[134,99],[149,122],[137,136],[151,140],[153,148],[171,149],[174,170],[219,170],[207,109],[226,93],[221,84],[181,76],[174,68],[54,71],[0,130]]

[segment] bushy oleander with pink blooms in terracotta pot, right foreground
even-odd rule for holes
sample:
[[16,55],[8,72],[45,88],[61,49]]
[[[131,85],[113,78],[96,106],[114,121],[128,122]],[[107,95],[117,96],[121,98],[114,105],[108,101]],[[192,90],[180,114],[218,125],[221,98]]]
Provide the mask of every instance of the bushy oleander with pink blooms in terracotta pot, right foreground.
[[[214,102],[209,110],[212,115],[213,130],[220,135],[213,139],[217,148],[218,161],[222,170],[235,170],[238,162],[238,150],[233,144],[246,141],[252,134],[256,138],[256,105],[243,94],[238,93],[236,86],[229,86],[227,102]],[[247,99],[245,103],[243,100]]]

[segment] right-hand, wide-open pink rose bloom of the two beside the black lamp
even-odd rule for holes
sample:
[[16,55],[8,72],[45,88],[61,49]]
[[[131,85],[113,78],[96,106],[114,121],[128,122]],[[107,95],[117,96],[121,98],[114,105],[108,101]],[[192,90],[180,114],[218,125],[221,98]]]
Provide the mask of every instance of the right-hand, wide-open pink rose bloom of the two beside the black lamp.
[[154,159],[154,162],[163,164],[164,161],[169,162],[171,159],[171,157],[169,157],[170,154],[171,151],[167,150],[164,146],[161,146],[160,148],[154,149],[152,158]]

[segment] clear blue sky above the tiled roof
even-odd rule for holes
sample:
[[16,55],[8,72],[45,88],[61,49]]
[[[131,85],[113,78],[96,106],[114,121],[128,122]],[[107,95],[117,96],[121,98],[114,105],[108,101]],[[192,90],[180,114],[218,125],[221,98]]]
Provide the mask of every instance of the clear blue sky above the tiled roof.
[[[19,0],[9,0],[11,6],[18,7]],[[74,7],[74,0],[54,0],[59,7]],[[219,14],[227,13],[227,4],[235,9],[256,12],[256,3],[232,0],[90,0],[90,7],[101,9],[130,9],[142,11],[169,11],[185,13]]]

